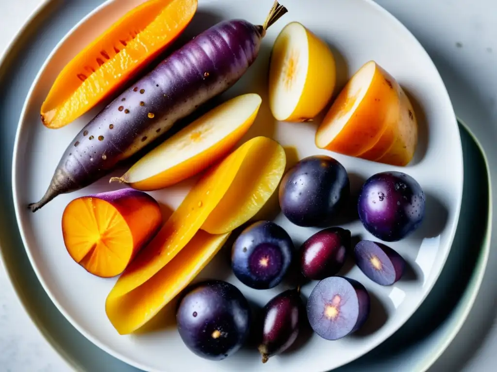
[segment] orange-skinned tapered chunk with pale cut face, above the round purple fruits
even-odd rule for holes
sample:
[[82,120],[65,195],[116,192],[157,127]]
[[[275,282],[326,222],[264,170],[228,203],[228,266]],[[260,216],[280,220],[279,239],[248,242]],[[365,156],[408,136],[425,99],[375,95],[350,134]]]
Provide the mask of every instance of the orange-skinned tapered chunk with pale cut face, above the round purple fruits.
[[[401,102],[401,90],[397,86],[395,79],[377,63],[366,63],[333,102],[316,132],[316,145],[345,155],[358,157],[364,154],[363,157],[369,160],[377,160],[393,149],[392,138],[402,134],[402,146],[406,146],[411,154],[407,158],[411,160],[417,125],[415,120],[399,120],[404,115],[402,110],[409,116],[410,109],[404,107],[402,102],[405,100]],[[414,115],[412,110],[411,114]]]

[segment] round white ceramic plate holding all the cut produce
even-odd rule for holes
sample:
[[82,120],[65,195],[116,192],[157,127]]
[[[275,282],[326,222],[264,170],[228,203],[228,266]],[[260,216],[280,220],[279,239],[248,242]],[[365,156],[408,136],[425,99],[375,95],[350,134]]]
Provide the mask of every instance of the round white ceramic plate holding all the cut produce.
[[[141,0],[109,1],[95,9],[59,43],[35,79],[20,118],[14,149],[13,192],[16,216],[27,254],[43,287],[61,312],[89,340],[122,359],[147,371],[258,371],[256,352],[242,349],[222,362],[209,362],[189,352],[175,327],[120,336],[104,311],[105,298],[115,279],[88,274],[68,255],[60,229],[62,212],[77,196],[119,187],[101,180],[81,191],[61,195],[40,211],[28,212],[28,203],[44,193],[67,144],[97,112],[59,130],[45,128],[39,121],[39,108],[60,69],[85,44]],[[254,6],[249,0],[200,0],[199,10],[184,37],[207,28],[221,19],[245,18],[252,23],[264,20],[272,1]],[[271,359],[270,371],[325,371],[346,364],[368,352],[395,332],[418,308],[436,281],[450,250],[462,197],[462,150],[456,118],[443,82],[428,55],[414,37],[394,17],[372,1],[329,0],[283,2],[289,13],[273,25],[264,39],[257,61],[248,73],[223,95],[227,99],[242,92],[257,92],[266,98],[266,72],[270,48],[281,28],[300,21],[332,46],[338,64],[338,81],[343,85],[363,63],[375,60],[386,68],[415,102],[420,124],[419,145],[412,164],[403,169],[318,150],[314,145],[314,124],[274,123],[264,101],[248,136],[272,135],[282,145],[292,145],[299,158],[328,153],[349,172],[352,187],[374,173],[402,170],[423,187],[426,219],[408,239],[392,244],[409,262],[410,274],[393,287],[380,287],[367,280],[355,267],[343,272],[361,281],[372,296],[371,316],[360,332],[338,341],[325,341],[314,335],[292,353]],[[116,172],[118,174],[119,172]],[[191,182],[153,192],[163,204],[175,208]],[[283,216],[275,220],[286,228],[296,244],[316,229],[291,225]],[[359,221],[342,224],[354,236],[373,238]],[[218,273],[218,275],[214,275]],[[219,273],[221,273],[219,275]],[[231,274],[222,254],[204,270],[201,277],[217,276],[237,285],[254,303],[263,305],[283,290],[255,291]],[[315,283],[303,288],[309,294]]]

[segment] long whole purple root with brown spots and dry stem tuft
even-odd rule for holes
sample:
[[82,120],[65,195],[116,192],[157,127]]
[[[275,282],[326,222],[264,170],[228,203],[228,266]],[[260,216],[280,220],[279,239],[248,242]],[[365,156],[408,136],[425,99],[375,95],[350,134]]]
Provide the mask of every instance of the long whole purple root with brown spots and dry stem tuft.
[[273,6],[263,26],[220,22],[169,55],[108,104],[71,141],[35,212],[57,195],[91,185],[221,94],[258,56],[266,29],[286,13]]

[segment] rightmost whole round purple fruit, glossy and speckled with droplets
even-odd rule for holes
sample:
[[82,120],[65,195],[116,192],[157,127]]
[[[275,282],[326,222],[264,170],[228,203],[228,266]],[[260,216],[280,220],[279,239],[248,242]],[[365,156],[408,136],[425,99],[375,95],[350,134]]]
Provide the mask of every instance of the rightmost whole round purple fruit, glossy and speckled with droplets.
[[385,242],[396,242],[421,225],[424,203],[424,192],[413,177],[382,172],[364,183],[357,209],[367,231]]

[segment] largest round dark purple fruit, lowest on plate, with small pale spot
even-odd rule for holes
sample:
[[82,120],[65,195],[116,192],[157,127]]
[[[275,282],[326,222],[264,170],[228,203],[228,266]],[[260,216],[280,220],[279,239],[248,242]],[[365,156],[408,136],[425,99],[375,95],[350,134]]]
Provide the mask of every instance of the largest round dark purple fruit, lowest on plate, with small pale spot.
[[188,349],[199,357],[220,361],[245,343],[250,316],[248,301],[237,287],[207,280],[184,291],[176,323]]

